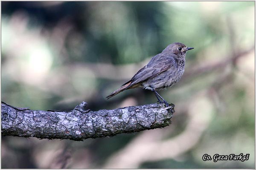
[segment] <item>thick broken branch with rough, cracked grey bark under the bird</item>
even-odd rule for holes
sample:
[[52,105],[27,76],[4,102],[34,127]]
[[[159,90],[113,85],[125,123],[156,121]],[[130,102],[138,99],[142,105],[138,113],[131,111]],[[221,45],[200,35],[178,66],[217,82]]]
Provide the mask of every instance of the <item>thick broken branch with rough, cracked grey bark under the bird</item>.
[[35,111],[1,103],[2,136],[39,139],[84,140],[132,133],[168,126],[174,105],[130,106],[114,110],[90,111],[82,102],[72,111]]

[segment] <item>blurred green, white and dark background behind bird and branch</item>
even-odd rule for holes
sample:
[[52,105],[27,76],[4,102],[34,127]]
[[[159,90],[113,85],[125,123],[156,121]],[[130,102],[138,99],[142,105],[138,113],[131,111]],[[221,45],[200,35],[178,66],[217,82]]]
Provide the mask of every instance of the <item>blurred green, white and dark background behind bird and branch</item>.
[[[105,96],[172,42],[186,54],[163,129],[83,142],[6,136],[2,168],[254,168],[255,2],[1,2],[1,100],[34,110],[157,102]],[[203,161],[249,153],[247,161]]]

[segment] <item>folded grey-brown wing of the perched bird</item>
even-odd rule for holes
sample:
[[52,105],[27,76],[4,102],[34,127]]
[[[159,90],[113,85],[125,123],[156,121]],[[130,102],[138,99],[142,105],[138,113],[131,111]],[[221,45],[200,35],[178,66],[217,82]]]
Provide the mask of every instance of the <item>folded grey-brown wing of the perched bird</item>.
[[145,65],[141,68],[134,77],[131,78],[131,84],[129,87],[144,82],[145,80],[149,79],[150,77],[155,77],[158,74],[166,71],[174,64],[174,59],[171,57],[165,56],[155,56],[151,59],[148,65]]

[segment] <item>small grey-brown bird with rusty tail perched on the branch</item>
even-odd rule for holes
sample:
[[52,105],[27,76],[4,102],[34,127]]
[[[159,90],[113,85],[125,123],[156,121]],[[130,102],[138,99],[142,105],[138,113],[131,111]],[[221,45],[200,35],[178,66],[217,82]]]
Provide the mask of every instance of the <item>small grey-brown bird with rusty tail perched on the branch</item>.
[[147,65],[141,68],[131,80],[106,98],[109,99],[130,88],[141,87],[154,91],[158,101],[168,107],[169,104],[157,93],[157,90],[171,87],[180,80],[184,73],[186,51],[191,49],[193,48],[186,47],[180,42],[168,45],[160,54],[154,56]]

